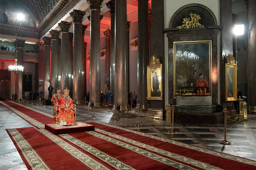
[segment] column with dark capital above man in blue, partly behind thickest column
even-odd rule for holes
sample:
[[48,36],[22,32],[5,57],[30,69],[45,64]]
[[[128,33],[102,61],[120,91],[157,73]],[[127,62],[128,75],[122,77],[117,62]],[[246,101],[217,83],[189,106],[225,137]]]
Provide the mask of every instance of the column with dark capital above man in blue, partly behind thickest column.
[[[110,28],[110,81],[109,90],[112,94],[115,94],[115,0],[111,0],[106,3],[110,9],[111,28]],[[113,96],[115,99],[115,95]]]

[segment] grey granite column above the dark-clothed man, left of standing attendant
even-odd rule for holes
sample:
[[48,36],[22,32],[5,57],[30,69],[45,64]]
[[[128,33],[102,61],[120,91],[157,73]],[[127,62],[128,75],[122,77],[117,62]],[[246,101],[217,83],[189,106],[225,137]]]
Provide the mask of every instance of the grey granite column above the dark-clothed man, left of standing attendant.
[[48,87],[51,84],[51,37],[43,37],[45,45],[45,63],[44,63],[44,96],[49,99]]

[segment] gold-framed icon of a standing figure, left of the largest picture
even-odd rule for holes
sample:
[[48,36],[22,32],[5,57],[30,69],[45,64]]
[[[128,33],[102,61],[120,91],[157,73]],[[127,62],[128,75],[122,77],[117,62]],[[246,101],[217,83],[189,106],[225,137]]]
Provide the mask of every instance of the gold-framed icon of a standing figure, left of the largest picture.
[[162,64],[147,66],[147,99],[163,100]]

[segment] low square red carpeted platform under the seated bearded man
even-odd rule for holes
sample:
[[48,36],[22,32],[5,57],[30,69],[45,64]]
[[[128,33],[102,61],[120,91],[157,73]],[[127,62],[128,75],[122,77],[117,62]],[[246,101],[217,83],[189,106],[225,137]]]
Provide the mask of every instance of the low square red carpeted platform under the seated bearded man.
[[94,126],[83,122],[77,122],[75,125],[72,126],[60,126],[59,124],[52,123],[45,124],[45,129],[55,135],[59,135],[65,133],[94,131]]

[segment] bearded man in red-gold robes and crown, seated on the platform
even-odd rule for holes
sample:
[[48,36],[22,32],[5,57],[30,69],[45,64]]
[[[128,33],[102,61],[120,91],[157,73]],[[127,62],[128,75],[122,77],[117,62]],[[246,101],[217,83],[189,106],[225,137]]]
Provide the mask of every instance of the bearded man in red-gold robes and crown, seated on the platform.
[[66,88],[63,90],[64,95],[59,100],[60,113],[58,118],[60,120],[60,126],[69,126],[74,124],[74,106],[72,98],[69,97],[69,90]]

